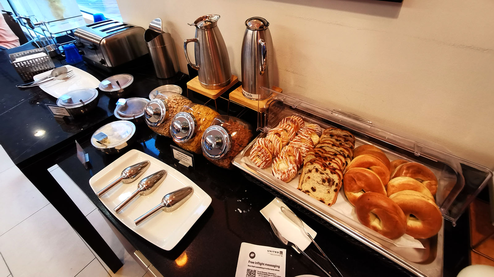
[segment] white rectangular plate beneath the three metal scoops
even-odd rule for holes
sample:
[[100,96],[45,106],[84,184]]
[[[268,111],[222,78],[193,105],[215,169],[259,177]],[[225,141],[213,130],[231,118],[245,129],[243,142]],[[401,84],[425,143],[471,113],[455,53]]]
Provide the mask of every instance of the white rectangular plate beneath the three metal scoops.
[[[100,200],[115,217],[137,235],[158,247],[171,250],[211,204],[211,197],[193,181],[162,161],[132,149],[92,176],[89,180],[89,185],[96,193],[117,179],[125,168],[145,160],[150,161],[151,165],[144,174],[131,183],[118,184],[104,194]],[[160,170],[165,170],[168,174],[163,183],[153,193],[146,196],[138,196],[120,213],[115,212],[114,208],[137,189],[139,180]],[[165,194],[186,186],[193,187],[194,194],[180,208],[172,212],[158,211],[155,215],[139,224],[139,226],[135,226],[134,219],[160,204]]]

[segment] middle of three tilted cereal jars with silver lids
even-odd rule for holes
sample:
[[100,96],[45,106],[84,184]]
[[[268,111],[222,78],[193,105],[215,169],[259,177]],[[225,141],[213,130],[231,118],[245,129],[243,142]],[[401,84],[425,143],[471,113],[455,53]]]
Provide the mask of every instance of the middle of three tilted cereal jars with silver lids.
[[201,154],[201,138],[219,113],[208,106],[190,103],[171,120],[169,132],[181,148]]

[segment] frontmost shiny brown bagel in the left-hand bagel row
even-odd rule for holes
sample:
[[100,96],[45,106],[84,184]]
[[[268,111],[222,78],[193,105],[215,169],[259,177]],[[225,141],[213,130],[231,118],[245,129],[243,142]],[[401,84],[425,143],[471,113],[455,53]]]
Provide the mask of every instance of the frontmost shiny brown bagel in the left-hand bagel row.
[[407,219],[393,200],[377,192],[366,192],[355,202],[360,223],[389,239],[398,239],[407,230]]

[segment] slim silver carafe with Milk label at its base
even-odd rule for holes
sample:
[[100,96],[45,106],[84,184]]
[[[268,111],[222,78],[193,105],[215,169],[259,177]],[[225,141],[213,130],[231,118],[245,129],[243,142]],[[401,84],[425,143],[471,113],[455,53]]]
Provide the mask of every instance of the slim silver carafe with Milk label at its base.
[[246,20],[242,42],[242,93],[248,99],[263,100],[271,95],[273,40],[269,22],[262,17]]

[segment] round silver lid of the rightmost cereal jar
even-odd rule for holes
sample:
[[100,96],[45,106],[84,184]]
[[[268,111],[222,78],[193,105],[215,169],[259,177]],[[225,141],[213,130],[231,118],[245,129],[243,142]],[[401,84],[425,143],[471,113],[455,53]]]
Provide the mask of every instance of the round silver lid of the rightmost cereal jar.
[[209,126],[204,131],[201,147],[208,158],[221,159],[232,148],[232,139],[225,128]]

